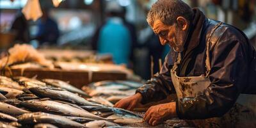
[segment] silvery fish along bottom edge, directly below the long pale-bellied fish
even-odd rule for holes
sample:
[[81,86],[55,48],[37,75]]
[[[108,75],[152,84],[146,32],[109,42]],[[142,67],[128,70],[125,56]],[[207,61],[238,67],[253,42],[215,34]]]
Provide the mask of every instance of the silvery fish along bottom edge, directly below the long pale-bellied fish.
[[17,117],[20,124],[40,124],[49,123],[58,127],[85,127],[83,124],[74,122],[60,115],[52,115],[49,113],[25,113]]

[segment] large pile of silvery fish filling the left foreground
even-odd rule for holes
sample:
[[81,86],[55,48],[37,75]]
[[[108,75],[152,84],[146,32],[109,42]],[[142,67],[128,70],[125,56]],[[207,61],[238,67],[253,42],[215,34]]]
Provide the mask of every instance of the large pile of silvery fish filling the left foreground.
[[131,111],[90,101],[93,95],[56,79],[0,76],[0,127],[123,127],[143,122]]

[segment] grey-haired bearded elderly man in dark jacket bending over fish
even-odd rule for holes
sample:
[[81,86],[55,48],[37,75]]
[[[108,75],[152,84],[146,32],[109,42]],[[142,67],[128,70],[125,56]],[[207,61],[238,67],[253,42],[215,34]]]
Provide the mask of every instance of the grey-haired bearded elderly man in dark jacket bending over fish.
[[[148,12],[147,21],[161,44],[170,45],[173,51],[166,56],[159,74],[115,107],[132,110],[139,103],[162,100],[176,93],[176,102],[148,109],[144,119],[151,125],[177,116],[220,117],[235,103],[242,104],[240,108],[255,107],[254,95],[248,94],[256,93],[256,53],[242,31],[207,19],[200,10],[191,9],[180,0],[157,1]],[[239,124],[246,120],[237,118],[243,118],[233,120]],[[255,116],[250,118],[255,122]]]

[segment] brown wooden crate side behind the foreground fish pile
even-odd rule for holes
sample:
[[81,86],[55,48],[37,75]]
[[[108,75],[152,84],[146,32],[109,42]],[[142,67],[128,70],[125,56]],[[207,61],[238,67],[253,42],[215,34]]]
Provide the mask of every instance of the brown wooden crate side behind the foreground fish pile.
[[26,68],[25,70],[11,69],[12,72],[6,70],[4,76],[25,76],[35,77],[36,79],[60,79],[68,81],[70,84],[81,88],[82,86],[104,80],[125,80],[127,75],[122,72],[88,72],[85,70],[61,70],[61,69],[46,69],[46,68]]

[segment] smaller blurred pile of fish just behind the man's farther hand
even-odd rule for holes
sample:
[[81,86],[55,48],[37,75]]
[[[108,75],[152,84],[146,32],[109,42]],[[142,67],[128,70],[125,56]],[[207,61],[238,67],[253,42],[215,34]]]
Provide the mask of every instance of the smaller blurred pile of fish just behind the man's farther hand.
[[88,100],[113,107],[120,99],[134,95],[142,85],[134,81],[100,81],[83,86],[82,90],[92,97]]

